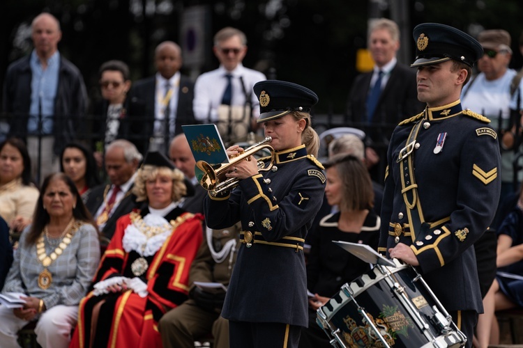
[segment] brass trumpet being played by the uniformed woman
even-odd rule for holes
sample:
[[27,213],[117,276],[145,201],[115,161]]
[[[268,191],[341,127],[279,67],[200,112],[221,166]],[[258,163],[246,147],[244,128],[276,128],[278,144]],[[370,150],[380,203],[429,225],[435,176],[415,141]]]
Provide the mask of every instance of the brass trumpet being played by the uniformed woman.
[[222,191],[234,189],[240,183],[237,177],[226,177],[225,173],[232,171],[232,167],[238,164],[238,161],[250,161],[250,156],[255,155],[256,152],[266,149],[271,152],[271,163],[265,166],[264,161],[258,161],[258,171],[269,171],[273,167],[276,160],[276,154],[270,143],[273,139],[267,136],[264,140],[255,143],[245,151],[230,158],[229,163],[211,165],[206,161],[197,161],[197,168],[204,173],[199,184],[207,191],[212,191],[211,194],[216,195]]

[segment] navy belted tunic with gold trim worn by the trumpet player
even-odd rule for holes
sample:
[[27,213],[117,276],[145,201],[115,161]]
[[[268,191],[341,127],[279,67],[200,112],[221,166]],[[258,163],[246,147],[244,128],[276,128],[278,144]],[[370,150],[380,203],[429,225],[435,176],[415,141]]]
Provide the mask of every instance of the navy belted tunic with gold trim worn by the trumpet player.
[[256,239],[250,247],[240,246],[222,317],[307,326],[303,239],[321,207],[326,178],[305,145],[276,153],[277,170],[248,177],[230,194],[204,201],[209,228],[241,221]]

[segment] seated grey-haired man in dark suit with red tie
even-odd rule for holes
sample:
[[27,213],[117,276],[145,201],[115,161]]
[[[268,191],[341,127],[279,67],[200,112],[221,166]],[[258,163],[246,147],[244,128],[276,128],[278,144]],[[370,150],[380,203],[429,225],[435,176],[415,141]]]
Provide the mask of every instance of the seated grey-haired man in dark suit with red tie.
[[110,184],[94,187],[86,197],[85,206],[93,215],[100,232],[109,239],[114,234],[116,220],[136,206],[136,197],[131,189],[140,161],[142,154],[130,141],[113,141],[105,152],[105,171]]

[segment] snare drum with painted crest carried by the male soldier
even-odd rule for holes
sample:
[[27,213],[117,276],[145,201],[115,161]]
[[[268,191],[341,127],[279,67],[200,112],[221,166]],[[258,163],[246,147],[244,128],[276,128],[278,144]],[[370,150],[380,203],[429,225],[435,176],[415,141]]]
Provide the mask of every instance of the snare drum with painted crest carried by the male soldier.
[[462,347],[467,338],[411,266],[376,265],[319,308],[333,347]]

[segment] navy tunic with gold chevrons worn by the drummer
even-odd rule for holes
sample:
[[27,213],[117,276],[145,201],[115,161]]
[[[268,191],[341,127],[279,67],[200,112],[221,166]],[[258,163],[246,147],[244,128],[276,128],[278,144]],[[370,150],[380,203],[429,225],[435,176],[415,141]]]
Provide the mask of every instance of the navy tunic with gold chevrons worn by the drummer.
[[[422,123],[409,155],[414,161],[407,168],[397,159],[417,122]],[[488,122],[462,111],[457,100],[401,122],[388,148],[379,251],[398,242],[409,245],[446,310],[483,312],[471,246],[490,226],[501,187],[499,139]],[[410,226],[402,193],[407,171],[417,184],[418,230]]]

